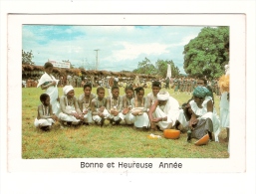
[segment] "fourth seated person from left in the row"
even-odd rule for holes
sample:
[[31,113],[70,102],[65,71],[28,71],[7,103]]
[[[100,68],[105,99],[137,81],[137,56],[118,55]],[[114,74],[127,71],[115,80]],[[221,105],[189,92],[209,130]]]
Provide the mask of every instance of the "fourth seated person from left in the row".
[[110,113],[106,108],[107,98],[105,97],[105,89],[103,87],[99,87],[97,89],[97,96],[98,97],[92,99],[91,103],[93,120],[97,124],[103,126],[105,119],[110,116]]

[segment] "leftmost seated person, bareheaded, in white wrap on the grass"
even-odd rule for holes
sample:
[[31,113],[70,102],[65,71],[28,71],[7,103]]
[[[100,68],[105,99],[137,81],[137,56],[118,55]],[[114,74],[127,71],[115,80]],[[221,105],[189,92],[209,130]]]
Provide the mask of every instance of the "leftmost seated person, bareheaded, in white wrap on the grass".
[[51,125],[55,123],[58,117],[53,114],[49,95],[42,94],[40,96],[40,101],[42,104],[38,105],[37,117],[35,118],[34,124],[42,130],[50,130]]

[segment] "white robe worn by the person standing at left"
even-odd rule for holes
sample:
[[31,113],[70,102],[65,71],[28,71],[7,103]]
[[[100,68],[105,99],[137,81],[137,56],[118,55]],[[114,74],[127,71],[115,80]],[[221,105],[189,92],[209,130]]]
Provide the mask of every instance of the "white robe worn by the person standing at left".
[[39,88],[41,85],[43,85],[46,82],[53,82],[53,81],[55,81],[57,83],[56,86],[49,87],[46,90],[46,94],[49,95],[49,97],[50,97],[50,103],[52,104],[52,107],[53,107],[53,113],[58,115],[59,112],[60,112],[60,103],[57,100],[57,98],[59,97],[58,88],[57,88],[59,80],[56,80],[54,78],[54,76],[52,76],[52,78],[51,78],[47,73],[45,73],[40,78],[40,80],[38,82],[38,85],[37,85],[37,88]]

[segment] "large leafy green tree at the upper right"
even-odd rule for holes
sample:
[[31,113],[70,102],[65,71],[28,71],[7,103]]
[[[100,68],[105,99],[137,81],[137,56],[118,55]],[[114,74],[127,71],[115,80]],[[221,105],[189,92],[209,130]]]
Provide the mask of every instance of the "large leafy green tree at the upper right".
[[184,46],[184,70],[190,76],[218,78],[229,62],[229,27],[205,27]]

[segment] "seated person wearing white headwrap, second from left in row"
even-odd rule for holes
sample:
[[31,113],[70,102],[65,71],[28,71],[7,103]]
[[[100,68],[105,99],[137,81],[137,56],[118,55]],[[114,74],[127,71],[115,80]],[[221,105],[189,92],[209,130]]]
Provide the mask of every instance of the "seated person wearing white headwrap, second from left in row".
[[84,115],[79,108],[78,99],[72,86],[63,88],[64,96],[60,98],[61,112],[59,118],[64,124],[78,125],[83,123]]

